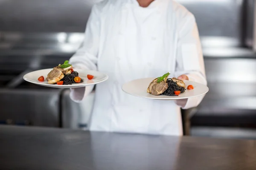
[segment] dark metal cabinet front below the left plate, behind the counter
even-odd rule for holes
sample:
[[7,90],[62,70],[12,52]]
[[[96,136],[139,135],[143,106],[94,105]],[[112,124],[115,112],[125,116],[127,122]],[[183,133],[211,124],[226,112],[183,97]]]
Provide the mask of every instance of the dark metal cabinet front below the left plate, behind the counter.
[[0,90],[0,121],[3,124],[59,127],[60,91]]

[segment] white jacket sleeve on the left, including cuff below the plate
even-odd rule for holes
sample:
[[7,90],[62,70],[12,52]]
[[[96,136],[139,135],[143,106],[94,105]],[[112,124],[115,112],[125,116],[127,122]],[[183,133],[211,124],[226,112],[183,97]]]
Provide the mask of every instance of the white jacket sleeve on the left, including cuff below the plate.
[[[97,70],[97,55],[99,50],[99,11],[93,6],[90,17],[87,21],[84,33],[84,42],[79,50],[70,58],[70,64],[74,69]],[[80,102],[90,94],[94,86],[70,89],[70,98],[74,102]]]

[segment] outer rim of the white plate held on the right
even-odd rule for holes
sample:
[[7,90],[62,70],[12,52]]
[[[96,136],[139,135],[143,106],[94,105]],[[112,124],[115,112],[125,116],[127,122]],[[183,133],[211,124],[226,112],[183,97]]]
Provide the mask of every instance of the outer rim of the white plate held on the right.
[[[140,79],[155,79],[155,78],[152,78],[152,77],[148,77],[148,78],[140,78]],[[144,98],[144,99],[154,99],[154,100],[179,100],[179,99],[189,99],[189,98],[194,98],[194,97],[198,97],[198,96],[202,96],[204,94],[207,94],[209,92],[209,87],[207,85],[204,85],[202,83],[198,83],[198,82],[194,82],[194,81],[191,81],[191,80],[185,80],[185,81],[189,81],[189,82],[193,82],[193,83],[197,83],[197,84],[200,84],[200,85],[204,85],[206,88],[207,88],[207,91],[202,93],[202,94],[199,94],[199,95],[196,95],[196,96],[189,96],[189,97],[179,97],[177,98],[178,96],[166,96],[166,98],[155,98],[154,95],[152,95],[152,97],[145,97],[145,96],[139,96],[139,95],[136,95],[136,94],[131,94],[131,93],[128,93],[124,90],[124,86],[130,82],[133,82],[133,81],[136,81],[136,80],[140,80],[140,79],[134,79],[134,80],[131,80],[129,82],[125,82],[123,85],[122,85],[122,91],[125,92],[126,94],[129,94],[129,95],[132,95],[132,96],[137,96],[137,97],[140,97],[140,98]],[[176,97],[176,98],[174,98]]]

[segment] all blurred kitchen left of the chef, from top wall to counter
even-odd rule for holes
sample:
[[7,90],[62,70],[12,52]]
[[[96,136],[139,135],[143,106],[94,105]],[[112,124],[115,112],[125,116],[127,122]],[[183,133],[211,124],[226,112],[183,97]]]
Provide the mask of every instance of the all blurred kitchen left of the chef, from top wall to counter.
[[[81,104],[65,100],[68,91],[30,84],[23,81],[23,75],[52,68],[74,54],[83,40],[93,3],[91,0],[0,1],[0,123],[86,126],[83,122],[88,116],[83,119],[80,115]],[[87,110],[93,103],[91,97],[87,100],[83,113],[90,112]]]

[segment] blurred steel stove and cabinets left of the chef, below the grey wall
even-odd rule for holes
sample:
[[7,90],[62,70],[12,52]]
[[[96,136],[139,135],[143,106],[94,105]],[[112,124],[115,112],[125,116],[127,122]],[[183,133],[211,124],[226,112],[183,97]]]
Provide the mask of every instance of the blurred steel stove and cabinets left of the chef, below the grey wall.
[[[1,32],[0,50],[0,122],[3,124],[79,128],[86,126],[83,114],[90,114],[93,93],[81,105],[69,99],[69,91],[33,85],[23,75],[34,70],[53,68],[69,59],[79,48],[83,33],[9,33]],[[59,42],[67,36],[71,42]],[[17,40],[16,37],[22,37]],[[67,40],[69,41],[69,40]],[[67,101],[69,99],[69,101]],[[71,109],[72,108],[72,109]],[[82,119],[81,119],[82,118]]]

